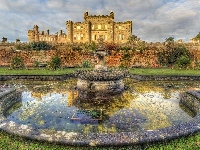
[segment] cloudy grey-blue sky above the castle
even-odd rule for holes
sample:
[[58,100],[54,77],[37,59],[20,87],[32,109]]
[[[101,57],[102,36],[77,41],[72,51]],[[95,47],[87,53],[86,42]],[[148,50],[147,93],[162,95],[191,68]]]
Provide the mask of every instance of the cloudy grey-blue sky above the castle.
[[89,15],[109,15],[116,22],[131,20],[132,34],[146,42],[168,37],[188,42],[200,32],[200,0],[0,0],[0,38],[28,41],[34,25],[54,34],[66,21],[83,22]]

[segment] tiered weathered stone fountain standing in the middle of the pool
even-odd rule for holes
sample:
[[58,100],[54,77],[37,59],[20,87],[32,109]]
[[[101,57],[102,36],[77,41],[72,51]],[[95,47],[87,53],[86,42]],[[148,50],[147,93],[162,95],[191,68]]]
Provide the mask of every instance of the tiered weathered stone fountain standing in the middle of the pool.
[[105,65],[107,52],[103,45],[103,39],[99,38],[98,42],[99,47],[95,51],[97,64],[94,70],[82,71],[78,75],[79,98],[87,98],[91,95],[94,95],[95,98],[106,98],[105,95],[120,94],[124,90],[125,71],[107,68]]

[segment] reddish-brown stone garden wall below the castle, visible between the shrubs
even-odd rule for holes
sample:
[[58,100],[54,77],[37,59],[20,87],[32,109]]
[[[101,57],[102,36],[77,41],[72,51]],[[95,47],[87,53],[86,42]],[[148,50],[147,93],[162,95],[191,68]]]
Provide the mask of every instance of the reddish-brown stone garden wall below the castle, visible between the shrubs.
[[[21,43],[28,44],[28,43]],[[194,54],[194,60],[200,61],[200,43],[182,43]],[[61,57],[63,67],[80,66],[84,60],[90,61],[93,65],[96,63],[96,58],[92,53],[72,50],[73,45],[59,45],[59,50],[48,51],[28,51],[16,50],[17,43],[0,43],[0,66],[10,66],[12,57],[19,56],[24,60],[26,67],[32,67],[35,62],[48,63],[52,57],[58,55]],[[57,45],[55,45],[57,46]],[[123,45],[124,46],[124,45]],[[132,46],[132,45],[129,45]],[[157,53],[166,48],[166,43],[145,43],[145,50],[132,51],[127,53],[130,55],[129,66],[140,67],[159,67]],[[123,50],[118,52],[111,51],[111,55],[106,56],[106,64],[109,67],[120,66],[120,60],[123,58]]]

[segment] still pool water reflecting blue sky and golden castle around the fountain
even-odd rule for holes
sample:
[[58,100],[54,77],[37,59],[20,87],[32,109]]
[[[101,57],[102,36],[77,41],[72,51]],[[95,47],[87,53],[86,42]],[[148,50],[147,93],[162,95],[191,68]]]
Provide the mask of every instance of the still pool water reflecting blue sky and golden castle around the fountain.
[[9,81],[1,85],[22,91],[22,101],[4,115],[19,124],[44,130],[80,133],[115,133],[154,130],[192,120],[195,116],[179,101],[179,93],[199,88],[200,82],[136,82],[109,99],[79,99],[66,81]]

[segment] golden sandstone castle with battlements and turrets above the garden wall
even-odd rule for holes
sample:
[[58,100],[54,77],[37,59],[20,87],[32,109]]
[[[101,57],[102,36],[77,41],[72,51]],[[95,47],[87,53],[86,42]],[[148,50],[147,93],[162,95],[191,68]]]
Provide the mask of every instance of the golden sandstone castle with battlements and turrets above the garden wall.
[[114,12],[110,15],[88,15],[84,13],[84,22],[66,21],[67,34],[60,30],[58,34],[49,34],[39,31],[39,27],[34,25],[33,30],[28,30],[29,42],[54,42],[54,43],[97,43],[98,38],[103,38],[109,43],[126,43],[128,37],[132,35],[132,21],[115,22]]

